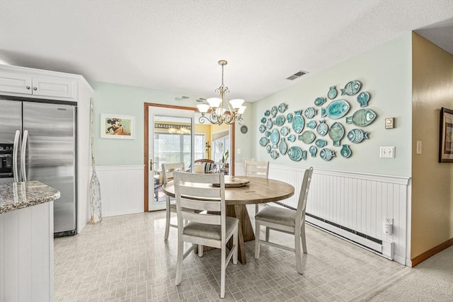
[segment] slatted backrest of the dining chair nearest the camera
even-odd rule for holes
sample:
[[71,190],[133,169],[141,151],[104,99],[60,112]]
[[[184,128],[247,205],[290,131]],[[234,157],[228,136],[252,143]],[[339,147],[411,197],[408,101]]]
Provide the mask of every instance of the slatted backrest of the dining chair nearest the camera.
[[[176,172],[173,176],[178,226],[184,226],[183,220],[222,225],[222,236],[225,236],[225,175]],[[209,214],[212,211],[220,215]]]

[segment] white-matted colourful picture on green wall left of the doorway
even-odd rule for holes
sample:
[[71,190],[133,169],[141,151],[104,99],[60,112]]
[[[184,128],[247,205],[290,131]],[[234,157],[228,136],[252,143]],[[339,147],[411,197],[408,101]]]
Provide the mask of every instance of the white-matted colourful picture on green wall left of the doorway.
[[134,139],[135,117],[101,113],[101,137],[103,139]]

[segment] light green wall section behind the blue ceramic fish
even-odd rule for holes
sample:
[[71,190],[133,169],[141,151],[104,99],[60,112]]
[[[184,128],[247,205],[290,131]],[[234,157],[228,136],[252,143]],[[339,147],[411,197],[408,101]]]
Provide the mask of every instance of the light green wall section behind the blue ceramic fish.
[[[301,79],[295,80],[299,83],[259,100],[253,104],[253,123],[251,123],[254,157],[257,160],[266,160],[282,165],[312,165],[314,168],[410,177],[411,64],[411,33],[407,33],[325,71],[302,76]],[[360,105],[357,103],[357,95],[341,96],[340,88],[344,88],[345,84],[351,80],[360,81],[362,83],[361,91],[370,93],[371,99],[367,108],[377,113],[377,119],[367,127],[355,127],[353,124],[346,124],[345,117],[339,120],[326,120],[329,126],[336,121],[345,127],[345,137],[343,137],[341,144],[350,145],[352,149],[350,158],[340,156],[341,148],[334,147],[328,135],[323,137],[328,141],[326,147],[336,150],[336,158],[331,161],[323,161],[320,158],[319,148],[316,158],[311,158],[308,154],[306,161],[294,162],[288,156],[281,155],[276,160],[270,158],[265,148],[259,144],[259,139],[263,137],[263,134],[258,131],[258,127],[261,118],[264,117],[265,110],[270,110],[274,105],[286,103],[288,105],[286,115],[287,112],[314,107],[318,109],[318,114],[314,120],[319,122],[321,120],[321,108],[314,105],[314,100],[320,96],[326,97],[329,87],[336,86],[338,90],[336,99],[343,98],[351,105],[350,111],[346,115],[350,116],[360,109]],[[323,107],[326,107],[329,101]],[[395,117],[395,129],[384,128],[386,117]],[[288,123],[285,125],[290,127]],[[354,128],[369,132],[369,139],[360,144],[352,144],[346,138],[346,134]],[[304,131],[306,129],[308,128],[305,127]],[[292,133],[294,134],[293,131]],[[318,134],[316,135],[319,137]],[[288,146],[300,146],[307,151],[309,149],[309,145],[302,141],[288,142]],[[396,158],[379,158],[379,146],[396,146]]]

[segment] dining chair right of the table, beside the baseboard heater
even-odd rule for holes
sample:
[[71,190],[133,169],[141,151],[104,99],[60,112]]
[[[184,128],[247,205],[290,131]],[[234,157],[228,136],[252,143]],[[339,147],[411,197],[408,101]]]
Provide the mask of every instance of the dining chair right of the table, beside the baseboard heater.
[[[275,248],[282,248],[295,252],[297,272],[302,274],[302,254],[301,243],[304,254],[306,254],[306,240],[305,240],[305,209],[306,197],[309,194],[309,187],[311,176],[313,175],[313,167],[305,170],[304,179],[302,180],[302,187],[299,194],[299,202],[297,203],[297,210],[285,209],[280,207],[265,207],[258,214],[255,215],[255,259],[260,257],[260,244],[267,244]],[[260,226],[265,226],[265,240],[260,240]],[[271,243],[269,241],[269,231],[275,230],[283,233],[294,235],[294,248],[289,248],[286,245]]]

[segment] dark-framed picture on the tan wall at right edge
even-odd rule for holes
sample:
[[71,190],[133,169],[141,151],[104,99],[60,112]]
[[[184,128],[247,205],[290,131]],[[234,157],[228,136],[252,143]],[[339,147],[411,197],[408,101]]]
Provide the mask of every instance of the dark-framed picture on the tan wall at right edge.
[[439,163],[453,163],[453,110],[440,110]]

